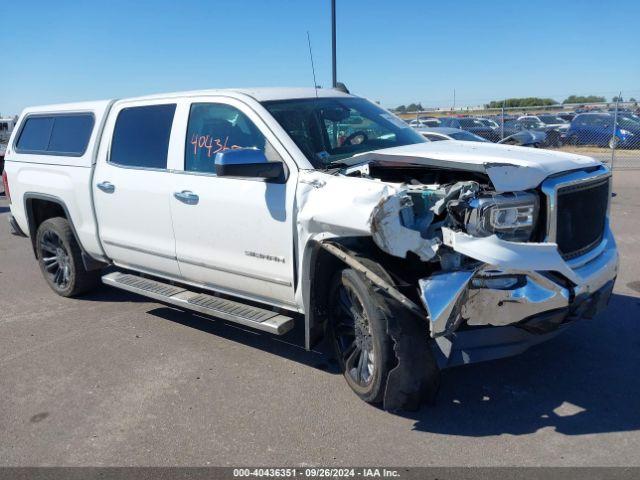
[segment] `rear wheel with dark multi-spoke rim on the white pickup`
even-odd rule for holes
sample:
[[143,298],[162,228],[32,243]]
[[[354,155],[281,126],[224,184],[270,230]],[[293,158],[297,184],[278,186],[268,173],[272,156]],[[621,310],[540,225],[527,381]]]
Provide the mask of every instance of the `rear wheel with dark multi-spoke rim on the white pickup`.
[[62,297],[74,297],[98,285],[100,271],[87,271],[82,251],[66,218],[45,220],[36,233],[40,271],[51,289]]

